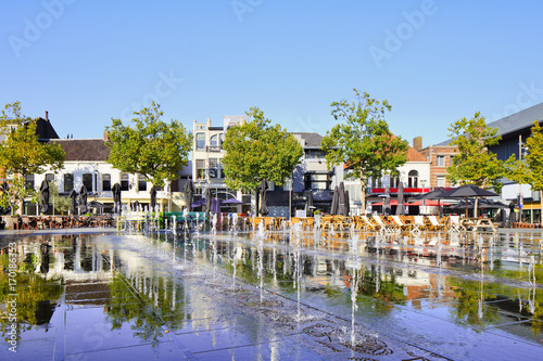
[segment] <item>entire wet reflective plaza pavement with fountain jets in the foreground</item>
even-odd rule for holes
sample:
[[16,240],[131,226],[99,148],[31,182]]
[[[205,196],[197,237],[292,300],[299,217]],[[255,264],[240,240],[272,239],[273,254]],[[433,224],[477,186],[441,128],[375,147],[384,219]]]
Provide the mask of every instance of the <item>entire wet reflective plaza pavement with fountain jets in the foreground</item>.
[[543,359],[542,235],[502,231],[0,233],[0,359]]

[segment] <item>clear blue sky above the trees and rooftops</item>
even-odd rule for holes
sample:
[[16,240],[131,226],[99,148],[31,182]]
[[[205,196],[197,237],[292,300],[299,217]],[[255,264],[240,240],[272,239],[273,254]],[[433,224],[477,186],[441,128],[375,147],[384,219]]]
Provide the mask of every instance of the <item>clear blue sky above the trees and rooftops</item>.
[[61,138],[100,138],[151,99],[190,130],[258,106],[325,134],[330,102],[357,88],[426,146],[477,111],[490,123],[543,101],[542,13],[535,0],[3,0],[0,104],[49,111]]

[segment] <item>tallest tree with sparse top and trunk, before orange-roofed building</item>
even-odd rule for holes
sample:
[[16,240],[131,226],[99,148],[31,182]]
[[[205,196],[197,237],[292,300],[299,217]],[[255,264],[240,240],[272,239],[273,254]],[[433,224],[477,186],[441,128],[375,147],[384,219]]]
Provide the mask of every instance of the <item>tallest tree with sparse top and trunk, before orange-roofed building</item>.
[[406,141],[394,137],[384,120],[390,112],[388,101],[379,102],[368,93],[354,89],[356,101],[331,103],[336,125],[323,138],[320,144],[326,152],[328,168],[345,164],[352,177],[361,180],[362,207],[366,208],[365,188],[370,178],[379,179],[407,162],[409,149]]

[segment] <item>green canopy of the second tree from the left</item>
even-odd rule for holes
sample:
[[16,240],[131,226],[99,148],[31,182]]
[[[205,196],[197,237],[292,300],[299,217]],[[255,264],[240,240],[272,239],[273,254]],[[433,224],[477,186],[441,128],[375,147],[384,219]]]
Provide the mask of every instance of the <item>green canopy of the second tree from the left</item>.
[[156,186],[177,179],[188,165],[192,134],[178,120],[163,121],[164,114],[154,102],[134,114],[134,128],[113,118],[105,127],[105,144],[111,150],[108,162],[122,171],[146,176]]

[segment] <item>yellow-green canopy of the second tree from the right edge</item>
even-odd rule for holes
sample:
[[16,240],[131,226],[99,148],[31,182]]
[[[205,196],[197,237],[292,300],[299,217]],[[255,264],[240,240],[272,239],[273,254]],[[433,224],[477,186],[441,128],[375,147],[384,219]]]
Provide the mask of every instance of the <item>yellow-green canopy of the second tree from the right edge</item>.
[[462,118],[449,128],[453,138],[451,145],[458,146],[458,154],[453,157],[447,168],[447,179],[451,183],[476,184],[482,189],[493,189],[500,193],[503,186],[502,177],[507,175],[507,168],[515,156],[500,160],[489,147],[500,142],[497,128],[487,126],[484,117],[479,112],[471,119]]

